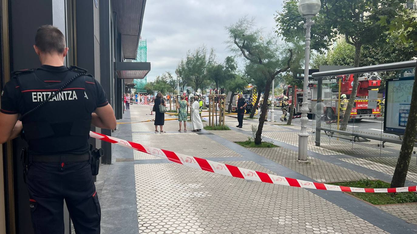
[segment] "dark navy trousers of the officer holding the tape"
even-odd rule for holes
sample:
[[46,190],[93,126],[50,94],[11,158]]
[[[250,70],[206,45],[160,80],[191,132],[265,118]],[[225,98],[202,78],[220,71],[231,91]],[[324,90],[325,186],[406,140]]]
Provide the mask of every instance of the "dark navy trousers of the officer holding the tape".
[[75,233],[100,233],[100,204],[90,162],[32,162],[26,177],[35,234],[64,233],[64,199]]

